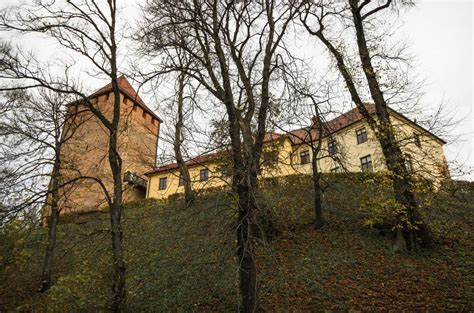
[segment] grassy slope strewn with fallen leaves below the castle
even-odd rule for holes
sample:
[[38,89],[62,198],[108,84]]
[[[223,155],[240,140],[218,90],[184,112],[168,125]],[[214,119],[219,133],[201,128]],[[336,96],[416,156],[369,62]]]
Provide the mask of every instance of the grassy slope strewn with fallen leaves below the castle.
[[[358,175],[330,176],[328,224],[311,228],[310,184],[294,179],[264,189],[267,216],[280,234],[258,244],[261,306],[318,309],[474,309],[474,205],[438,196],[425,212],[437,247],[423,256],[391,252],[391,238],[364,226],[361,203],[383,192]],[[214,193],[193,208],[143,201],[125,214],[128,297],[135,311],[228,311],[238,302],[235,209]],[[103,311],[110,297],[108,215],[69,218],[60,226],[56,285],[34,293],[44,229],[10,229],[0,240],[0,311]],[[3,308],[3,309],[2,309]]]

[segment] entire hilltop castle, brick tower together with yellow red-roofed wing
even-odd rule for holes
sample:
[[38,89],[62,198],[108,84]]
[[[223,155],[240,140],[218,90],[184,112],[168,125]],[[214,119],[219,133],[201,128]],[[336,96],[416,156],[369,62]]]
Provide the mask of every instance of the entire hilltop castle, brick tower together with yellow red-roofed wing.
[[[156,155],[162,120],[138,96],[125,77],[119,78],[120,132],[119,153],[123,160],[124,201],[141,198],[163,199],[184,192],[183,179],[176,163],[156,167]],[[101,112],[111,114],[111,85],[89,98]],[[70,110],[80,110],[75,104]],[[368,106],[374,113],[373,106]],[[396,137],[405,154],[407,168],[420,177],[439,182],[449,175],[443,151],[445,141],[404,115],[390,110]],[[83,115],[83,116],[82,116]],[[63,175],[80,173],[104,181],[111,189],[108,165],[107,131],[91,113],[81,113],[82,123],[72,140],[61,150],[65,162]],[[384,171],[382,149],[367,122],[356,109],[325,124],[326,132],[314,134],[314,128],[288,133],[267,133],[262,153],[261,177],[310,174],[311,141],[321,141],[318,164],[321,172]],[[308,140],[309,138],[309,140]],[[225,152],[201,155],[187,161],[193,189],[221,187],[230,183],[231,166]],[[62,213],[93,211],[106,206],[104,193],[93,181],[79,181],[64,192]]]

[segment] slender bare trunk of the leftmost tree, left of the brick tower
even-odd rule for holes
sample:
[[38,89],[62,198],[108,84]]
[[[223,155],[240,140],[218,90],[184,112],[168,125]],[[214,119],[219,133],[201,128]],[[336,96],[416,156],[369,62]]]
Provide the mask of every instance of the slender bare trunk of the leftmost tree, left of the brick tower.
[[43,271],[41,274],[41,286],[39,292],[45,292],[52,284],[53,258],[56,248],[56,233],[59,221],[59,152],[56,154],[53,172],[51,175],[51,214],[48,218],[48,243],[44,258]]

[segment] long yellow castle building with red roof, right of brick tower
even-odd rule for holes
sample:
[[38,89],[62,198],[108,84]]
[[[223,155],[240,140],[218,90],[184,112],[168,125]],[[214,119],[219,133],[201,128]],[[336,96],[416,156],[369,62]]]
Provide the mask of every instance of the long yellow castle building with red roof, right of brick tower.
[[[369,113],[375,114],[373,105]],[[432,134],[404,115],[391,110],[396,138],[405,155],[407,169],[424,178],[436,188],[449,177],[443,139]],[[315,123],[315,121],[313,121]],[[321,141],[318,168],[323,173],[378,172],[386,165],[380,143],[368,123],[357,111],[350,110],[325,123],[322,134],[315,127],[296,129],[288,133],[267,133],[261,157],[260,177],[282,177],[312,173],[311,143]],[[222,152],[199,156],[188,161],[192,186],[206,189],[229,185],[231,168],[228,156]],[[183,178],[176,163],[166,164],[146,173],[147,197],[167,198],[183,193]]]

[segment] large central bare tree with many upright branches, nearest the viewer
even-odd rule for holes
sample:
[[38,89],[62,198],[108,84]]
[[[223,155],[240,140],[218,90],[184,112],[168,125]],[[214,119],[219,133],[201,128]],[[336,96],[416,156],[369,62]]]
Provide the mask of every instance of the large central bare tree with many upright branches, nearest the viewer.
[[[292,5],[271,0],[151,0],[140,36],[143,53],[160,60],[158,73],[185,73],[225,108],[232,186],[238,196],[237,255],[244,312],[258,308],[251,233],[258,208],[257,175],[271,88],[277,85],[280,65],[291,58],[284,38],[296,12]],[[177,61],[178,54],[190,60],[189,66]]]

